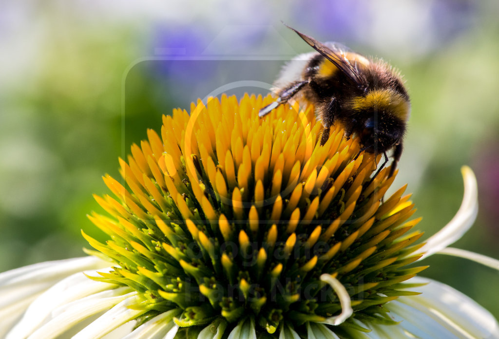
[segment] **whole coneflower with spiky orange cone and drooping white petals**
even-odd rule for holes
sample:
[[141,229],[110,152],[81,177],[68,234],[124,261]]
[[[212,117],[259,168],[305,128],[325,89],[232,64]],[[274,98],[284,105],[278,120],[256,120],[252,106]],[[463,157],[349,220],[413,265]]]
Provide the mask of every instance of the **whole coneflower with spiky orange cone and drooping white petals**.
[[0,275],[0,333],[499,338],[487,311],[410,265],[443,250],[497,266],[446,249],[476,216],[471,170],[457,216],[425,245],[406,186],[385,196],[389,167],[373,176],[379,159],[340,127],[321,146],[313,107],[259,119],[270,100],[222,96],[164,116],[161,135],[120,159],[122,182],[104,177],[114,197],[95,196],[110,216],[89,218],[110,240],[83,234],[89,257]]

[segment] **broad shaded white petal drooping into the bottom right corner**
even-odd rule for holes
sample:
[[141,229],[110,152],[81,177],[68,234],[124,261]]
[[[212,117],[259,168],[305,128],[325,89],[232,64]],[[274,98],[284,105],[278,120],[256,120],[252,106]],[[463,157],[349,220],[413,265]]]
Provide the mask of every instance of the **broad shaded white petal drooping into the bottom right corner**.
[[496,319],[475,301],[450,286],[425,278],[411,288],[418,296],[400,297],[386,305],[398,325],[372,326],[371,339],[498,339]]

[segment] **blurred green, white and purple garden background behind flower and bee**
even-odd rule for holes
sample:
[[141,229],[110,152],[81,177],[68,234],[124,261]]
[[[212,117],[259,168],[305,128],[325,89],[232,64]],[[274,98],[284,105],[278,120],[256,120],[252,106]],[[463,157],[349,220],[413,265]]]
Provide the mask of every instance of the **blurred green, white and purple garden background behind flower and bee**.
[[[412,116],[395,186],[409,183],[429,236],[458,210],[470,165],[480,212],[455,246],[499,258],[498,15],[495,0],[1,1],[0,271],[81,256],[81,229],[104,240],[86,218],[102,211],[101,176],[118,177],[118,157],[172,108],[225,84],[265,93],[248,81],[270,84],[310,51],[281,20],[402,71]],[[498,272],[424,263],[499,318]]]

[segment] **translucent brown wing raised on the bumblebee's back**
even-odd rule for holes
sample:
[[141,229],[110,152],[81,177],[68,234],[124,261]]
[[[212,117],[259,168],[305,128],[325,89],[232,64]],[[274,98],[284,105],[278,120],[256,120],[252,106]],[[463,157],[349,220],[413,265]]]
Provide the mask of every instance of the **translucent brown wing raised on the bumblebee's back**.
[[353,66],[347,59],[345,52],[349,51],[348,48],[344,47],[338,43],[327,43],[323,44],[313,37],[303,34],[296,29],[289,27],[296,32],[306,43],[308,43],[313,49],[322,54],[327,60],[331,61],[338,69],[340,69],[343,74],[345,74],[354,84],[357,86],[362,85],[362,80],[357,69],[357,65]]

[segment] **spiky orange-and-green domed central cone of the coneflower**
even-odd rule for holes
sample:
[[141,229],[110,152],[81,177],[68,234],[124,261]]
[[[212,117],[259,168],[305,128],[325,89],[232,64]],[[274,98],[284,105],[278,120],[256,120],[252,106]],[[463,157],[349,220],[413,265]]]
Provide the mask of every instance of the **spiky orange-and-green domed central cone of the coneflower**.
[[174,110],[161,136],[149,130],[120,159],[123,184],[104,177],[116,198],[96,199],[112,218],[90,219],[111,239],[85,237],[116,263],[101,280],[140,293],[142,321],[177,310],[193,331],[251,321],[270,338],[284,324],[301,336],[341,313],[327,274],[353,309],[331,328],[348,333],[354,319],[389,323],[382,305],[410,293],[401,283],[423,269],[405,267],[422,233],[406,221],[405,186],[382,201],[395,176],[372,178],[377,159],[358,155],[355,136],[333,126],[321,146],[313,107],[259,119],[271,100],[224,95]]

